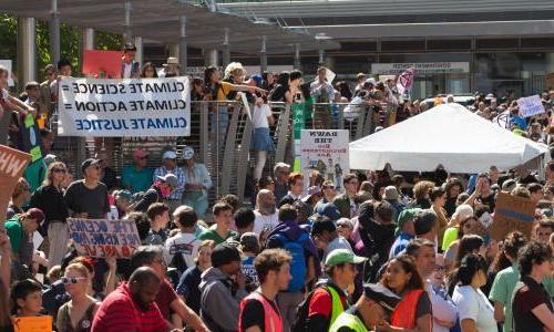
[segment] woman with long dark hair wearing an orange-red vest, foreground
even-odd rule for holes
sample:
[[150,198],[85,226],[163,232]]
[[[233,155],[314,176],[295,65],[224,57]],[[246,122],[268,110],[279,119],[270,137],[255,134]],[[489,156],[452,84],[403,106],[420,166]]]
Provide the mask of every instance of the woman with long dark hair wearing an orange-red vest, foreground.
[[390,324],[382,323],[381,331],[432,330],[431,300],[424,290],[416,260],[409,255],[393,258],[381,279],[381,283],[402,298],[390,317]]

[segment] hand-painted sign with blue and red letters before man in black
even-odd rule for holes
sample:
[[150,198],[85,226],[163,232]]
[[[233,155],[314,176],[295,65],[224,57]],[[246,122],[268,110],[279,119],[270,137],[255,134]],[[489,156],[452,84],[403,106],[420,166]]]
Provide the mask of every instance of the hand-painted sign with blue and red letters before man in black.
[[130,258],[141,246],[134,220],[68,219],[70,238],[79,255],[104,258]]

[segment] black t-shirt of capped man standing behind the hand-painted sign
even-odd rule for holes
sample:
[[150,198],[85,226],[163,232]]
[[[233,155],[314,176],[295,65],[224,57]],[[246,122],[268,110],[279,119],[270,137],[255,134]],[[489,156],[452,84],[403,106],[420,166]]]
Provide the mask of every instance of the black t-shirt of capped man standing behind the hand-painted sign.
[[84,180],[72,183],[63,196],[68,208],[75,214],[88,214],[88,219],[104,219],[110,211],[107,189],[99,183],[94,189],[89,189]]

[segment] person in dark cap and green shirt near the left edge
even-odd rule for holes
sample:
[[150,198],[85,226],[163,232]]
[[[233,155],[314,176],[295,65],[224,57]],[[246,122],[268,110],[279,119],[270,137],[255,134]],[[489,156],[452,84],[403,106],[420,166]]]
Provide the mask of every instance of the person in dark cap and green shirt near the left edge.
[[14,279],[29,278],[32,273],[30,269],[34,246],[31,239],[43,220],[44,212],[38,208],[31,208],[27,212],[13,216],[4,224],[6,232],[10,237]]

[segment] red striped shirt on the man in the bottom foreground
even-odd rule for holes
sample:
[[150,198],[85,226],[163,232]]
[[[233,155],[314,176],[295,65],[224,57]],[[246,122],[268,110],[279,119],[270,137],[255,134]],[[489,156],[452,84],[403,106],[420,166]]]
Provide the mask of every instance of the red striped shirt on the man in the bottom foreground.
[[155,302],[143,311],[133,300],[126,283],[122,283],[110,293],[96,312],[92,322],[92,332],[164,332],[167,323],[160,313]]

